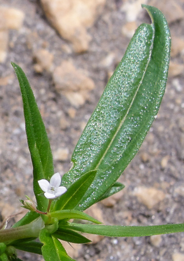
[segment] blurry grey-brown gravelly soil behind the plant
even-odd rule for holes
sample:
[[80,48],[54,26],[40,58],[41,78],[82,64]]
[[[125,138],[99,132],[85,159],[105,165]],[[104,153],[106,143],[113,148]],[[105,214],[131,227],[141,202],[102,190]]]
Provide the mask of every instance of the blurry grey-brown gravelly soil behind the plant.
[[[95,217],[102,218],[105,224],[184,222],[184,0],[147,1],[150,2],[162,8],[169,21],[171,70],[158,117],[120,178],[125,184],[123,192],[94,210]],[[85,37],[80,39],[81,45],[76,47],[72,42],[75,39],[66,40],[51,25],[40,1],[0,0],[0,8],[21,11],[17,26],[14,22],[5,29],[0,26],[0,52],[4,55],[0,63],[1,221],[20,211],[19,199],[25,194],[33,195],[21,95],[10,61],[23,68],[33,87],[54,153],[55,172],[64,174],[132,31],[140,23],[149,22],[146,11],[139,11],[140,3],[104,0]],[[9,21],[12,16],[5,19]],[[86,50],[77,51],[89,37]],[[70,78],[71,72],[74,76]],[[95,237],[96,244],[66,247],[68,255],[77,261],[184,261],[183,236],[184,233],[142,238]],[[19,254],[25,261],[43,260],[38,255]]]

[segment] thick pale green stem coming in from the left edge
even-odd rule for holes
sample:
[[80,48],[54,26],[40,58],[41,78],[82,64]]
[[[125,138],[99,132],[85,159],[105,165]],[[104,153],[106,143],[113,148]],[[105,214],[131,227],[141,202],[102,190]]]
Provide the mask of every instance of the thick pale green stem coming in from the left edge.
[[33,222],[16,228],[0,230],[0,243],[23,238],[38,238],[40,230],[44,227],[41,217]]

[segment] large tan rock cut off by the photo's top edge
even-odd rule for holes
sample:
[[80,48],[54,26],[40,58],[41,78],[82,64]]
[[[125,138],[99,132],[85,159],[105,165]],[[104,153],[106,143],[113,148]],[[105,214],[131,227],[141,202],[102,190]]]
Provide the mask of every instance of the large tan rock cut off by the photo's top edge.
[[93,25],[102,12],[106,0],[41,0],[48,20],[61,37],[73,44],[77,53],[89,47],[90,35],[87,28]]

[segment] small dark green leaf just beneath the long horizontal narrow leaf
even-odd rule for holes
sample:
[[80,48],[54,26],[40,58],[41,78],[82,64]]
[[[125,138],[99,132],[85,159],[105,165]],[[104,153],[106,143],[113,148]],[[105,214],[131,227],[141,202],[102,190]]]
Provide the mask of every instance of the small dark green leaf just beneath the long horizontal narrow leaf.
[[78,234],[75,231],[72,231],[70,229],[60,228],[53,234],[58,239],[75,243],[75,244],[86,244],[91,242],[91,240],[85,238],[81,234]]

